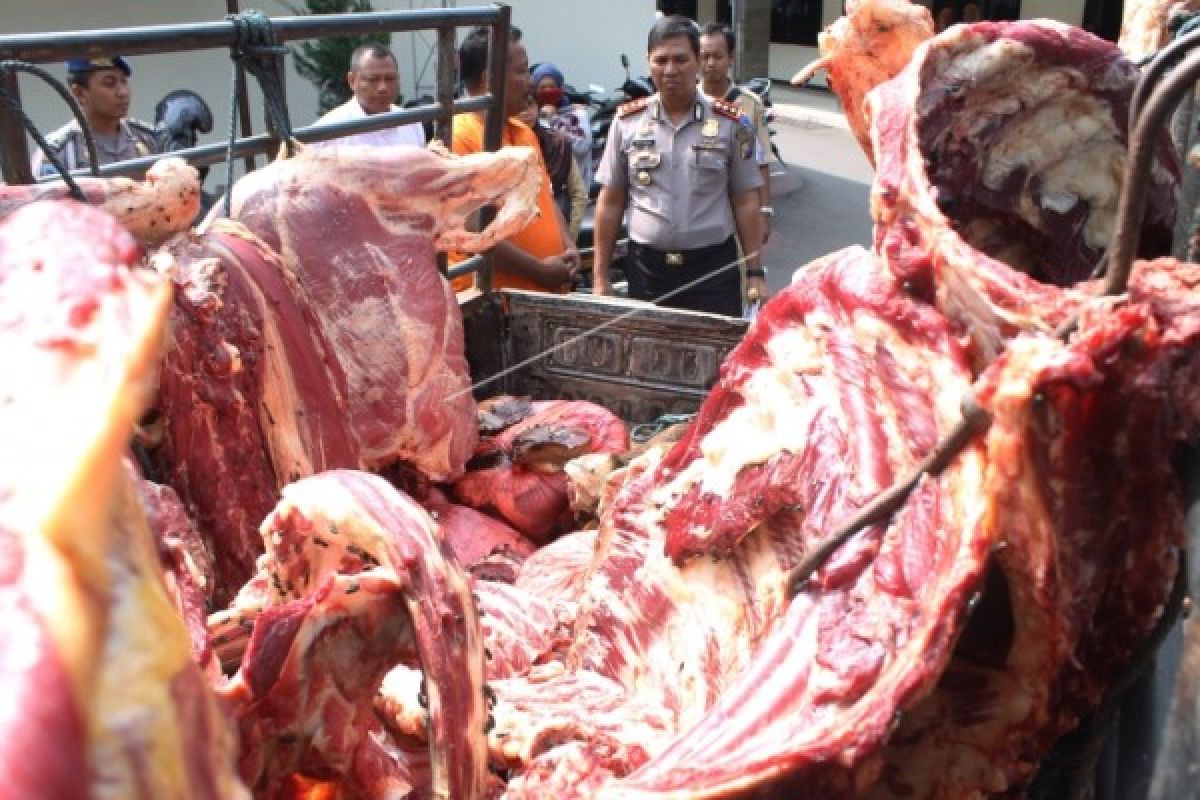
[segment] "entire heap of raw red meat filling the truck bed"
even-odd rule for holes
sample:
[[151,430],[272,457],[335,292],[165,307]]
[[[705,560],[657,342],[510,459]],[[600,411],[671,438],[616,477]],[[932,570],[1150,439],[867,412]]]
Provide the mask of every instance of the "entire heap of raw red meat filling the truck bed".
[[[1200,266],[1159,258],[1164,139],[1146,260],[1088,281],[1136,78],[1112,46],[928,12],[888,38],[898,4],[847,5],[826,55],[866,98],[875,247],[798,271],[635,449],[590,403],[473,396],[434,254],[523,224],[528,151],[302,151],[169,239],[178,162],[89,185],[104,211],[5,190],[10,793],[1022,792],[1175,581]],[[907,52],[851,85],[862,36]],[[986,431],[793,594],[965,401]]]

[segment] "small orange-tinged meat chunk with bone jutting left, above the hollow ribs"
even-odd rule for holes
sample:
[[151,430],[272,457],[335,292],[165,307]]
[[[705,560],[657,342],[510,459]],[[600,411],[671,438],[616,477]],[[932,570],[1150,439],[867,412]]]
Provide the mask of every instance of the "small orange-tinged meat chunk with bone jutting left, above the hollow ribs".
[[847,0],[844,13],[817,36],[821,58],[792,76],[792,83],[803,86],[824,70],[851,132],[874,164],[863,100],[895,77],[917,46],[934,35],[934,18],[929,8],[908,0]]

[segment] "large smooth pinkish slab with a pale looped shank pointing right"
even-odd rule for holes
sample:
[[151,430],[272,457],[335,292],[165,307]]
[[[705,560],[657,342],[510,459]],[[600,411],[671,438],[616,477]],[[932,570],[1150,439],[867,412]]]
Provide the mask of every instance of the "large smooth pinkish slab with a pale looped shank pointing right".
[[[535,156],[418,148],[308,149],[234,187],[233,217],[277,252],[334,356],[331,377],[368,469],[412,463],[443,481],[474,450],[475,404],[438,249],[484,249],[536,213]],[[479,234],[467,218],[502,204]],[[468,422],[469,420],[469,422]]]

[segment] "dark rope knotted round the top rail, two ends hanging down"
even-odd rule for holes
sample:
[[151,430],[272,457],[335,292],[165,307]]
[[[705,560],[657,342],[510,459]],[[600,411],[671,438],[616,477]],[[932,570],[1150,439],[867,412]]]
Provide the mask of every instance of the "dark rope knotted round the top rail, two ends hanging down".
[[266,113],[268,132],[283,143],[287,155],[295,155],[295,138],[292,136],[292,120],[288,115],[287,96],[283,91],[282,58],[288,48],[278,43],[270,18],[262,11],[244,11],[227,14],[233,23],[234,43],[229,48],[233,59],[233,77],[229,89],[229,140],[226,145],[226,196],[224,212],[229,216],[233,206],[233,150],[236,143],[238,121],[238,77],[245,71],[254,76],[263,90],[263,106]]

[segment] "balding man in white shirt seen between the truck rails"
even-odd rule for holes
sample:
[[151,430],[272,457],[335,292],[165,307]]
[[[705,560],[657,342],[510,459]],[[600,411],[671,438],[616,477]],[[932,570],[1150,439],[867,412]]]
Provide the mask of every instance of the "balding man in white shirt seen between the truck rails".
[[[383,44],[364,44],[354,50],[350,55],[350,71],[346,73],[346,83],[350,85],[354,96],[317,120],[318,124],[358,120],[371,114],[400,110],[398,106],[392,104],[400,86],[400,65],[391,50]],[[425,128],[420,122],[412,122],[383,131],[330,139],[323,144],[408,144],[424,148]]]

